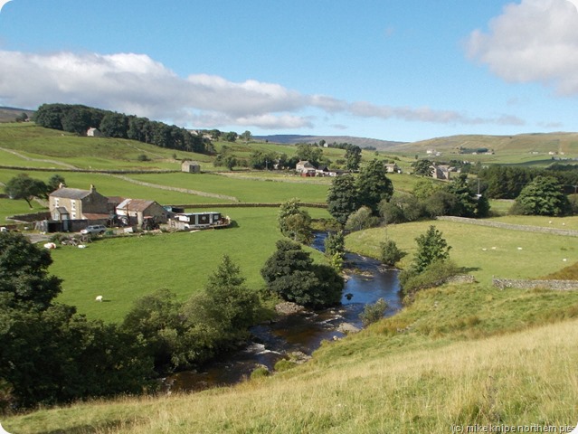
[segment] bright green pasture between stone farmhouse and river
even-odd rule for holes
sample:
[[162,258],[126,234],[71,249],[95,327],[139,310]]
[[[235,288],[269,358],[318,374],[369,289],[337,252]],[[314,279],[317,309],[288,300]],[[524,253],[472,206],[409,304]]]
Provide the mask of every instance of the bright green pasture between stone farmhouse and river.
[[[222,230],[157,235],[104,236],[86,249],[52,250],[49,271],[63,279],[57,301],[76,306],[91,318],[121,321],[137,297],[168,288],[181,300],[203,290],[206,279],[228,254],[250,288],[263,288],[259,270],[281,238],[277,208],[209,209],[228,214],[234,224]],[[314,218],[327,211],[308,209]],[[307,248],[308,249],[308,248]],[[321,254],[316,250],[314,257]],[[105,302],[95,302],[103,296]]]

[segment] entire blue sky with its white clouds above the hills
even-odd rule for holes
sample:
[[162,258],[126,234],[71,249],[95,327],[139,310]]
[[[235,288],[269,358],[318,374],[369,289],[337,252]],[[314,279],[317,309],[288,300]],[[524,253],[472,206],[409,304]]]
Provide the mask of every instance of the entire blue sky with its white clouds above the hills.
[[578,131],[578,0],[13,0],[0,105],[414,141]]

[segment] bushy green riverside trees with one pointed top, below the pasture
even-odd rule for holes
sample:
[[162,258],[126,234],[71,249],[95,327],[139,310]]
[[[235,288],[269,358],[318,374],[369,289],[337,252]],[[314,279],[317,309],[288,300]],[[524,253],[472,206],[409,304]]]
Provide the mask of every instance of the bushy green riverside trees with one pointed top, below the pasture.
[[224,255],[204,293],[185,302],[163,288],[135,302],[122,330],[138,336],[157,373],[204,363],[246,338],[261,308],[241,270]]

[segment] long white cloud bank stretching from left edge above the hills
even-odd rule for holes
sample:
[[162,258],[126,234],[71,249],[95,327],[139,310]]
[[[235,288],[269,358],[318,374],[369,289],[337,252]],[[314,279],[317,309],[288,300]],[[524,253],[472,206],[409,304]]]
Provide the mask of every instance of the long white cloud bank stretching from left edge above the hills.
[[442,124],[521,123],[507,116],[470,118],[451,110],[303,95],[277,83],[257,80],[233,82],[207,74],[184,79],[145,54],[0,51],[0,64],[0,104],[35,108],[44,102],[79,103],[186,127],[313,127],[316,118],[302,114],[311,110],[329,118],[341,113]]

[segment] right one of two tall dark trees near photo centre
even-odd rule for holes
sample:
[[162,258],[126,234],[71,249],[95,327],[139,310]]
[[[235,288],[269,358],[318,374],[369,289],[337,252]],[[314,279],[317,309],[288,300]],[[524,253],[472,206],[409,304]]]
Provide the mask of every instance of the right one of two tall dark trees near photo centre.
[[360,204],[369,207],[375,214],[379,203],[389,201],[393,195],[393,184],[386,174],[384,162],[374,159],[361,170],[355,183]]

